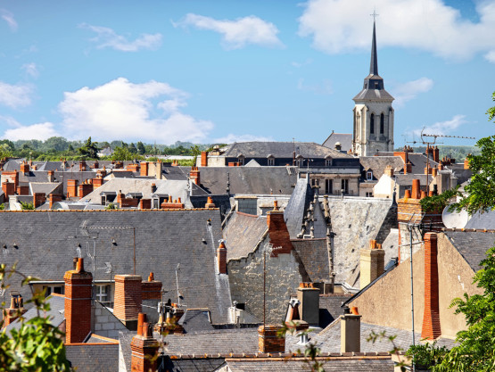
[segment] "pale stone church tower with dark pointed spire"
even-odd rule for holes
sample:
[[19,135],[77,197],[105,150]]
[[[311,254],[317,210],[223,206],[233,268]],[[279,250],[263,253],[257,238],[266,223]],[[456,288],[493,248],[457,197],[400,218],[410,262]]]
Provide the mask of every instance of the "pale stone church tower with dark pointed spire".
[[378,75],[375,21],[371,45],[369,75],[363,90],[354,98],[352,152],[358,156],[373,156],[377,152],[393,151],[393,97],[384,88]]

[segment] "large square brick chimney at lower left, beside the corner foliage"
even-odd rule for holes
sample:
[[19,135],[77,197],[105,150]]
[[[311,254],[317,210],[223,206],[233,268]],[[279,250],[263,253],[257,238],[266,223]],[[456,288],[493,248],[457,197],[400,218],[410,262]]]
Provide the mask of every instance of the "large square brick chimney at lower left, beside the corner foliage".
[[93,276],[78,259],[76,269],[65,272],[65,343],[82,343],[91,332]]

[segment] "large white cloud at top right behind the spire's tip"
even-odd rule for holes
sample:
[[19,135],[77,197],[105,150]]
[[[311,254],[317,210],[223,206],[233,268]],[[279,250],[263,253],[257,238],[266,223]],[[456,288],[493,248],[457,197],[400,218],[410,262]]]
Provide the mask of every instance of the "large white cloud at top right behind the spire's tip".
[[[371,42],[371,6],[380,12],[378,45],[417,48],[446,59],[465,60],[486,54],[493,62],[495,2],[476,2],[480,21],[467,21],[442,0],[309,0],[299,34],[330,54],[366,50]],[[357,12],[356,10],[359,10]],[[367,11],[368,10],[368,11]]]

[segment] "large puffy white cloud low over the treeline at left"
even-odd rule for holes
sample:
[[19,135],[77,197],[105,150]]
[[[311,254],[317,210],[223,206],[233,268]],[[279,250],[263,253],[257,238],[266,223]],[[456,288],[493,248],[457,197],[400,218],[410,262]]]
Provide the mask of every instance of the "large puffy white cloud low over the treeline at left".
[[59,111],[67,137],[139,137],[148,142],[172,144],[177,140],[202,142],[213,128],[208,120],[197,120],[180,112],[188,95],[158,81],[133,84],[119,78],[64,95]]

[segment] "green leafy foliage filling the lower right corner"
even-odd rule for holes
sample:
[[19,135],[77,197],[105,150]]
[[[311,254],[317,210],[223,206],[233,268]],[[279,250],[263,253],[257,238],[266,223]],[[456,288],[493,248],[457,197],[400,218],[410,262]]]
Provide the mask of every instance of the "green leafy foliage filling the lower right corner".
[[483,294],[456,298],[450,307],[466,317],[466,331],[458,332],[453,347],[435,366],[435,372],[478,372],[495,369],[495,247],[486,252],[483,269],[474,275],[474,283],[483,288]]

